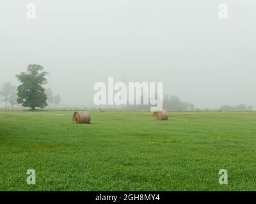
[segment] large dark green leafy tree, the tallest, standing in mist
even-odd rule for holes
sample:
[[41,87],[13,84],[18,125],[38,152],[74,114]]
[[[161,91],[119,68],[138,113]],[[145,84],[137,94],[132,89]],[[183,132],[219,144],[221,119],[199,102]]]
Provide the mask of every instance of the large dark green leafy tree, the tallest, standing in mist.
[[27,71],[16,75],[20,80],[17,88],[17,102],[24,107],[35,110],[36,107],[45,108],[47,106],[47,96],[42,85],[47,83],[45,78],[47,72],[39,64],[29,64]]

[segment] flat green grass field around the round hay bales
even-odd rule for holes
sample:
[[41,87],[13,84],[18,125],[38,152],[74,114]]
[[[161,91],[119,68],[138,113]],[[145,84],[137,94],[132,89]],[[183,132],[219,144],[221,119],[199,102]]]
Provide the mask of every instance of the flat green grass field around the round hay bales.
[[0,112],[1,191],[256,190],[256,112],[72,113]]

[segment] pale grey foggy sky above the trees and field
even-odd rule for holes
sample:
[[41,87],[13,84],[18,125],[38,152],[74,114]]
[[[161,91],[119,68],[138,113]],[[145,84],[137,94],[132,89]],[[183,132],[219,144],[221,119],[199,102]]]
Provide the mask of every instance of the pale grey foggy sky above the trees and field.
[[93,84],[108,77],[163,82],[164,94],[199,108],[256,107],[256,1],[221,2],[1,1],[0,85],[18,85],[15,75],[35,63],[63,107],[94,106]]

